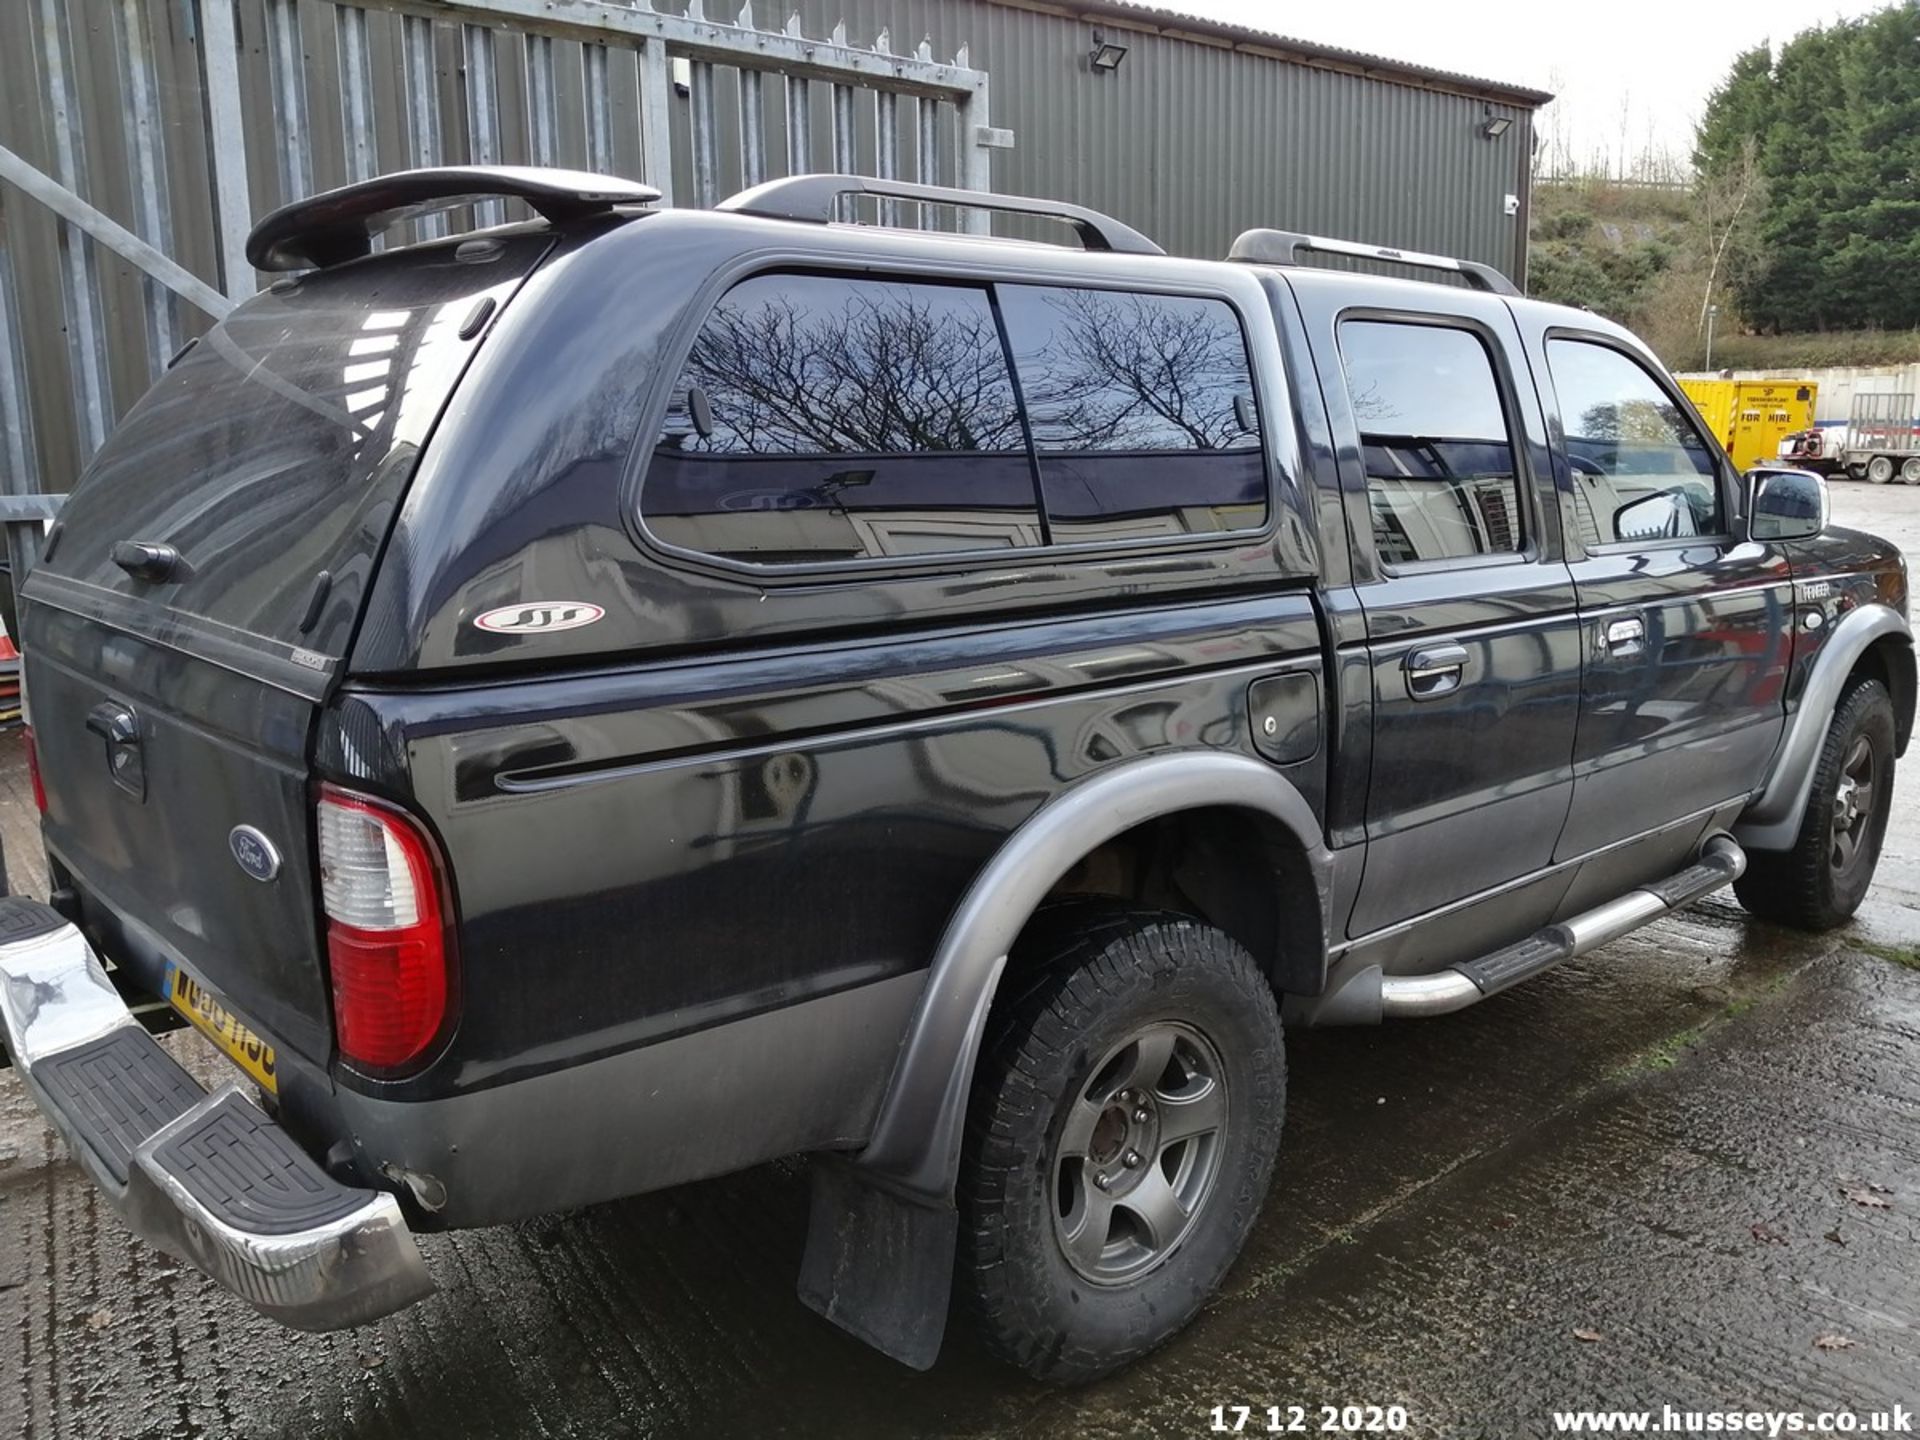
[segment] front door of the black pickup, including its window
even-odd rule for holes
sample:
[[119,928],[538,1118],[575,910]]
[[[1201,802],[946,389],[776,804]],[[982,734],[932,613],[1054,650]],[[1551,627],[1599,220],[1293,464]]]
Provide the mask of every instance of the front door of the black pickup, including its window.
[[1555,858],[1747,795],[1786,724],[1793,586],[1674,382],[1605,334],[1536,338],[1559,413],[1586,684]]

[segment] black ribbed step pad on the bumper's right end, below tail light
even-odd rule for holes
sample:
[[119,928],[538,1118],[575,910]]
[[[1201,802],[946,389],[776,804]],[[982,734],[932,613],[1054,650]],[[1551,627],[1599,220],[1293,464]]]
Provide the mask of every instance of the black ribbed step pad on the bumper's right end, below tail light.
[[171,1133],[154,1158],[207,1212],[250,1235],[315,1229],[351,1215],[372,1194],[332,1179],[238,1092]]

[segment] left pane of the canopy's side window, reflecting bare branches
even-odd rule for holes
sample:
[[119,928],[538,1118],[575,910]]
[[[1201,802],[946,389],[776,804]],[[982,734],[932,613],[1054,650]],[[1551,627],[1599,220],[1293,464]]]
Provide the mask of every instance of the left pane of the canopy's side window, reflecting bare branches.
[[668,543],[764,564],[1039,545],[987,292],[735,286],[693,342],[641,509]]

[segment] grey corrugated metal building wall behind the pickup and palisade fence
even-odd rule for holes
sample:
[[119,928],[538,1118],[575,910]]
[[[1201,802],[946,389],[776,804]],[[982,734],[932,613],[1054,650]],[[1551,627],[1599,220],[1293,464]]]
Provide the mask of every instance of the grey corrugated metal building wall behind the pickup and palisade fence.
[[[440,157],[474,156],[467,65],[470,36],[459,25],[403,19],[371,8],[317,0],[215,0],[230,4],[240,44],[242,125],[246,134],[248,209],[257,217],[296,194],[342,184],[365,173],[403,169]],[[733,19],[745,0],[710,0],[714,17]],[[793,0],[762,0],[758,23],[780,23]],[[202,96],[200,23],[205,0],[0,0],[0,144],[54,175],[109,217],[140,232],[194,275],[223,284],[221,246],[211,198],[211,159]],[[417,0],[430,8],[432,0]],[[1223,255],[1233,236],[1256,225],[1373,240],[1411,250],[1465,255],[1513,275],[1524,265],[1524,204],[1505,213],[1509,194],[1523,196],[1532,144],[1530,111],[1492,104],[1513,127],[1498,140],[1480,136],[1486,104],[1392,79],[1371,79],[1248,54],[1225,44],[1173,38],[1121,21],[1098,21],[1131,52],[1114,75],[1087,63],[1094,21],[1023,10],[987,0],[797,0],[804,35],[824,38],[845,21],[849,42],[872,46],[885,31],[889,50],[912,54],[922,38],[931,56],[956,56],[991,75],[991,121],[1014,131],[1010,150],[995,150],[995,188],[1075,200],[1135,225],[1175,253]],[[657,0],[657,10],[684,10]],[[273,44],[269,17],[286,21]],[[424,86],[438,131],[424,154],[409,129],[409,77],[403,25],[430,40]],[[351,33],[346,29],[351,27]],[[294,42],[298,35],[298,44]],[[131,48],[129,48],[131,36]],[[505,163],[549,159],[605,167],[641,177],[641,73],[632,48],[549,40],[553,60],[551,154],[536,154],[538,127],[528,106],[530,42],[501,33],[493,52],[497,154]],[[424,58],[426,48],[417,56]],[[58,56],[63,79],[50,75]],[[288,63],[288,58],[294,58]],[[344,84],[357,65],[367,84]],[[541,67],[545,75],[545,69]],[[584,79],[591,77],[591,79]],[[60,81],[56,84],[56,81]],[[586,84],[609,92],[609,123],[589,123]],[[134,104],[150,86],[150,104]],[[816,169],[833,165],[833,117],[828,86],[814,83],[810,152]],[[58,115],[65,96],[69,156],[61,156]],[[743,182],[739,154],[739,83],[720,67],[716,100],[716,194]],[[357,100],[371,132],[351,123]],[[876,169],[876,108],[862,92],[852,109],[852,169]],[[695,192],[689,148],[689,100],[668,100],[674,198]],[[785,119],[770,92],[766,144],[770,173],[783,173]],[[933,146],[939,179],[960,182],[964,140],[952,134],[956,111],[939,104]],[[152,117],[152,123],[140,123]],[[419,113],[413,113],[419,119]],[[280,131],[301,129],[300,144],[282,146]],[[900,173],[916,175],[920,111],[899,106]],[[290,173],[288,152],[294,154]],[[165,184],[142,182],[142,167]],[[171,205],[165,198],[171,196]],[[156,200],[161,204],[156,205]],[[996,221],[1002,232],[1048,232],[1044,223]],[[1052,232],[1058,236],[1058,232]],[[56,223],[52,213],[0,184],[0,250],[13,267],[21,336],[19,369],[27,374],[25,424],[6,420],[8,457],[27,457],[31,474],[8,478],[13,490],[65,490],[100,434],[146,390],[148,376],[179,342],[200,334],[207,319],[146,280],[132,265]],[[77,250],[69,252],[69,246]],[[98,275],[106,344],[92,372],[77,359],[67,334],[61,278],[73,267]],[[83,286],[92,290],[92,286]],[[0,324],[0,332],[6,326]],[[0,355],[0,361],[6,361]],[[0,374],[6,367],[0,365]],[[94,382],[104,376],[104,384]],[[104,392],[104,394],[100,394]],[[25,432],[25,434],[23,434]]]

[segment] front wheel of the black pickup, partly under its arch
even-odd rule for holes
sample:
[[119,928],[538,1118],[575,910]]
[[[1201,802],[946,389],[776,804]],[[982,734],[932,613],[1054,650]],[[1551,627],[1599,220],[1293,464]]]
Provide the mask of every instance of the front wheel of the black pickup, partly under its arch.
[[1841,695],[1820,745],[1793,849],[1749,854],[1734,895],[1782,925],[1847,924],[1874,883],[1891,810],[1893,699],[1878,680],[1859,680]]

